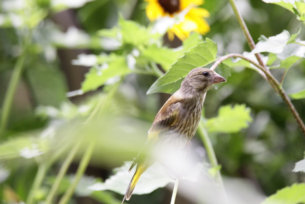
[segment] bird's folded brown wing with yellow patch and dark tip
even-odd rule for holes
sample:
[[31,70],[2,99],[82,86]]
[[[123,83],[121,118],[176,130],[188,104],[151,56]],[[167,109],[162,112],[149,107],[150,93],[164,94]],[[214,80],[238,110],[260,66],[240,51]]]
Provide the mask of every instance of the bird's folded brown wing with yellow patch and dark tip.
[[[170,97],[167,102],[162,106],[158,114],[156,115],[155,120],[152,123],[151,128],[148,131],[148,138],[146,144],[152,145],[159,140],[159,134],[162,132],[164,135],[167,130],[175,125],[179,118],[179,108],[180,102],[175,99],[173,96]],[[139,162],[144,160],[141,158],[141,154],[135,158],[135,161],[132,163],[129,171]],[[138,168],[138,167],[137,167]]]

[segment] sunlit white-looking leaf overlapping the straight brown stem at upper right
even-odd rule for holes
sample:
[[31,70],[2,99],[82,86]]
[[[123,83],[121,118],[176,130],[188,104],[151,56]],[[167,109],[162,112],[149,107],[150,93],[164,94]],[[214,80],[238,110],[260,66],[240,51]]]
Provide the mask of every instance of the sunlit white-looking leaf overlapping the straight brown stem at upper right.
[[256,54],[260,52],[281,53],[290,38],[291,36],[286,30],[284,30],[278,35],[271,36],[269,38],[266,38],[264,35],[261,35],[261,37],[259,38],[259,42],[250,52],[250,54]]

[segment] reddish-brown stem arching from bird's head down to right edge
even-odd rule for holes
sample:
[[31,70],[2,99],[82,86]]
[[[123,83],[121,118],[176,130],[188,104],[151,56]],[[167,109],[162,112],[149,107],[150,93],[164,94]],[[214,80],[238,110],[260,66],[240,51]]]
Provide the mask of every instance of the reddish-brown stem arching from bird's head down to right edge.
[[292,102],[290,101],[288,95],[286,94],[285,90],[281,86],[281,84],[274,78],[274,76],[269,72],[269,70],[265,69],[262,65],[257,64],[256,62],[250,60],[249,58],[243,56],[242,54],[228,54],[226,56],[221,57],[217,62],[213,64],[211,69],[215,69],[222,61],[230,58],[230,57],[239,57],[242,58],[260,70],[264,72],[264,74],[267,77],[268,82],[272,86],[272,88],[280,95],[280,97],[283,99],[285,102],[286,106],[288,106],[290,112],[292,113],[293,117],[296,119],[296,122],[299,124],[301,131],[303,132],[303,135],[305,136],[305,125],[302,121],[302,119],[299,116],[299,113],[296,111],[295,107],[293,106]]

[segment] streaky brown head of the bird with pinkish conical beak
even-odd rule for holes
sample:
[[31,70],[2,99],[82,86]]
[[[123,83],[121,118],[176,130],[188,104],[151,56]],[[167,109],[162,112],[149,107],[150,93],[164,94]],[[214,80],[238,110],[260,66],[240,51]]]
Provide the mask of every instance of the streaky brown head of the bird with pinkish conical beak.
[[205,93],[213,84],[226,81],[211,69],[196,68],[188,73],[181,83],[181,88],[195,93]]

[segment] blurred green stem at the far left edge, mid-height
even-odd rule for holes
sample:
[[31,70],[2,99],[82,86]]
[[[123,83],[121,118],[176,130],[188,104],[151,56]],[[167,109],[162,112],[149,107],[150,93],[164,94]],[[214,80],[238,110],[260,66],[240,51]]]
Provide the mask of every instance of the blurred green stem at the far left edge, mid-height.
[[9,112],[12,107],[12,102],[15,96],[16,88],[23,70],[23,64],[25,60],[25,53],[22,53],[15,64],[13,74],[11,76],[11,79],[9,81],[9,86],[7,88],[7,91],[5,93],[4,102],[2,105],[1,115],[0,115],[0,137],[4,133],[8,118],[9,118]]

